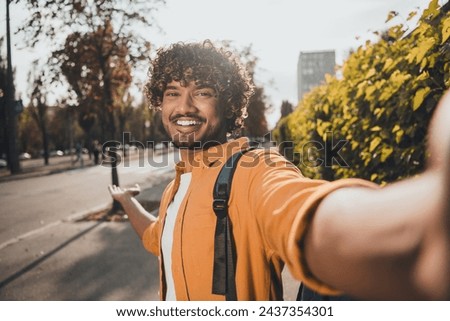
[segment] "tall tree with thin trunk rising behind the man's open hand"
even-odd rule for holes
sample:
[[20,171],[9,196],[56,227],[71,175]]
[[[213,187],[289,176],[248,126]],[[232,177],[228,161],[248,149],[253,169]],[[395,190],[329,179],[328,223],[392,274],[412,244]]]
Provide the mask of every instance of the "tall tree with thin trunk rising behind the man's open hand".
[[[28,9],[31,12],[29,19],[21,28],[26,35],[26,43],[34,46],[39,40],[52,39],[54,42],[63,40],[65,46],[55,50],[50,65],[53,66],[55,79],[58,79],[59,65],[62,64],[71,69],[77,69],[77,61],[72,60],[71,53],[64,49],[77,50],[91,53],[89,64],[82,64],[81,70],[75,74],[84,77],[97,70],[97,84],[99,88],[90,88],[89,85],[82,88],[76,94],[77,99],[86,98],[83,108],[83,127],[87,130],[94,122],[94,115],[90,113],[95,107],[100,109],[97,115],[108,119],[107,138],[113,140],[116,134],[114,108],[117,106],[114,99],[117,98],[115,80],[128,78],[129,73],[123,73],[117,64],[136,67],[140,61],[149,56],[150,43],[144,37],[148,35],[150,27],[154,26],[153,12],[158,5],[164,4],[163,0],[110,0],[110,1],[88,1],[88,0],[28,0]],[[66,63],[66,64],[64,64]],[[117,70],[120,72],[116,73]],[[70,72],[65,73],[70,74]],[[126,74],[126,75],[125,75]],[[70,76],[71,77],[71,76]],[[69,80],[70,83],[70,80]],[[73,85],[74,82],[72,81]],[[75,86],[77,87],[77,86]],[[91,90],[92,89],[92,90]],[[74,89],[75,90],[75,89]],[[85,95],[83,90],[95,92],[97,95]],[[115,157],[112,157],[112,183],[119,185]],[[119,204],[114,202],[113,209],[118,209]]]

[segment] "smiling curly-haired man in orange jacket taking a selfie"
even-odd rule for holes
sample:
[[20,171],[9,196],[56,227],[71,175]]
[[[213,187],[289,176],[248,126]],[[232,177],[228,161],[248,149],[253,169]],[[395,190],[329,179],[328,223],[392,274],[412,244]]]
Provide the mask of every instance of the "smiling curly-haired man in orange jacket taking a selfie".
[[[136,191],[110,192],[160,258],[161,299],[224,300],[211,290],[212,189],[228,157],[248,147],[245,138],[230,137],[253,87],[239,62],[209,41],[160,50],[150,75],[148,98],[180,150],[176,178],[158,218],[136,201]],[[359,179],[307,179],[278,153],[247,152],[229,202],[237,299],[282,300],[284,264],[323,294],[449,299],[449,109],[447,95],[431,128],[427,171],[382,189]]]

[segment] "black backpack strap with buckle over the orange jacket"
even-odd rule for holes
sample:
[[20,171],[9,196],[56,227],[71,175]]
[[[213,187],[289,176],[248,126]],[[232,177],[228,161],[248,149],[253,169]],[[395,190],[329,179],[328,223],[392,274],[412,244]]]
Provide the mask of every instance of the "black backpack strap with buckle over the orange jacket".
[[249,150],[241,150],[228,158],[217,176],[213,190],[213,209],[216,214],[214,233],[214,269],[212,293],[225,295],[227,301],[236,301],[235,262],[236,249],[232,238],[231,223],[228,218],[228,199],[231,183],[239,159]]

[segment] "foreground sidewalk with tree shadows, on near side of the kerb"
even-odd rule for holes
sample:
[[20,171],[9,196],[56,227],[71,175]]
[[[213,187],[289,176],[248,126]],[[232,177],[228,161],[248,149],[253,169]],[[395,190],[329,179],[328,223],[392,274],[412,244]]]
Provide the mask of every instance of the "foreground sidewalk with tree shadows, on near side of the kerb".
[[[159,300],[158,259],[145,251],[129,223],[67,222],[55,229],[55,239],[73,235],[80,224],[82,232],[4,279],[0,299]],[[22,248],[11,250],[23,256]]]

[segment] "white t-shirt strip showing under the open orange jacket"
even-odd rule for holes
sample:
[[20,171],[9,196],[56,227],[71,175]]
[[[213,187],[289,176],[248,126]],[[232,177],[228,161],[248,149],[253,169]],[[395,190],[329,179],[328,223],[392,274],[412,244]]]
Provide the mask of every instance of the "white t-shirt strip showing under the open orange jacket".
[[166,275],[166,301],[175,301],[175,285],[173,283],[172,276],[172,244],[173,244],[173,230],[175,227],[175,221],[177,219],[178,209],[181,202],[186,195],[189,184],[191,183],[192,173],[185,173],[180,176],[180,186],[175,194],[172,202],[167,207],[166,220],[164,223],[161,246],[162,256],[164,262],[164,272]]

